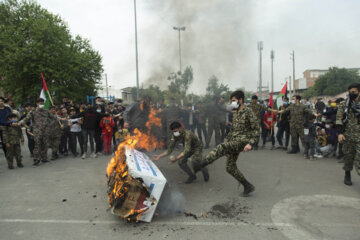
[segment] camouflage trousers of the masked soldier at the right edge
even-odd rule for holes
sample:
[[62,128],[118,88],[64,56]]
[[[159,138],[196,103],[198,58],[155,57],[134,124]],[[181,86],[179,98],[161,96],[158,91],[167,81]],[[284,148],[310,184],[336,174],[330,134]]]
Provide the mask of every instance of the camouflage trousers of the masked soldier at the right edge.
[[355,170],[360,175],[360,141],[351,140],[348,137],[345,137],[343,145],[344,152],[344,166],[345,171],[353,170],[355,165]]

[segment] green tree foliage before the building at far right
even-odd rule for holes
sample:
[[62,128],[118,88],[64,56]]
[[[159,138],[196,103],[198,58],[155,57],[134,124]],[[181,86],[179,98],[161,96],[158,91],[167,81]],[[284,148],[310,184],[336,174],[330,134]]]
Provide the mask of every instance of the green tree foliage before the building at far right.
[[360,82],[360,76],[356,70],[331,67],[326,74],[315,81],[314,86],[304,92],[303,96],[333,96],[345,92],[347,87],[355,82]]

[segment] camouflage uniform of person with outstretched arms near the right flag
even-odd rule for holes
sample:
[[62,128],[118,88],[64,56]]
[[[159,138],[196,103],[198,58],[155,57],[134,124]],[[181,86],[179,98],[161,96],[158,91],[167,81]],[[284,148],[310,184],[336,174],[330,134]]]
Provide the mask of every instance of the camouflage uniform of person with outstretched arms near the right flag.
[[291,146],[293,150],[299,150],[299,137],[301,144],[305,146],[304,139],[304,123],[306,121],[305,115],[312,114],[312,111],[304,104],[291,104],[283,112],[283,114],[290,114],[290,135]]

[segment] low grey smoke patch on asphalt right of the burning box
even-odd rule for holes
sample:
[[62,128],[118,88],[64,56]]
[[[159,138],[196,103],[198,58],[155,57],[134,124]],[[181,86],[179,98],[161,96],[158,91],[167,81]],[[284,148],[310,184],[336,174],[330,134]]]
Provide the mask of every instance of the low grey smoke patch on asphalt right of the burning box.
[[185,210],[185,197],[174,182],[168,182],[161,195],[156,212],[162,217],[176,216]]

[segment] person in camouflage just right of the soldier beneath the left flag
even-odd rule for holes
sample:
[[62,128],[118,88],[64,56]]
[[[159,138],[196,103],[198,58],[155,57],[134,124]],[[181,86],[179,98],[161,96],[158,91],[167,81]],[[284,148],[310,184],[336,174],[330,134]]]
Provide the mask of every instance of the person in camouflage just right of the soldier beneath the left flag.
[[[50,107],[50,112],[57,118],[56,108],[54,106]],[[59,155],[59,146],[61,140],[61,125],[57,120],[51,120],[49,126],[49,148],[51,149],[51,160],[56,160]]]

